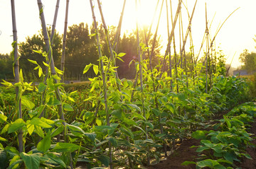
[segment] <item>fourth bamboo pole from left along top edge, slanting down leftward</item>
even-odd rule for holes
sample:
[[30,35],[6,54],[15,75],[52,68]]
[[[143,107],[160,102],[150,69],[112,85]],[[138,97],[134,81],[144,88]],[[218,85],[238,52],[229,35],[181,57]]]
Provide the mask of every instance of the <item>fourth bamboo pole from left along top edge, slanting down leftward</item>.
[[65,43],[67,37],[67,29],[68,29],[68,6],[69,0],[66,1],[66,10],[65,10],[65,23],[64,23],[64,33],[63,33],[63,48],[61,54],[61,61],[60,61],[60,71],[63,71],[63,75],[61,76],[61,82],[64,81],[64,73],[65,73]]

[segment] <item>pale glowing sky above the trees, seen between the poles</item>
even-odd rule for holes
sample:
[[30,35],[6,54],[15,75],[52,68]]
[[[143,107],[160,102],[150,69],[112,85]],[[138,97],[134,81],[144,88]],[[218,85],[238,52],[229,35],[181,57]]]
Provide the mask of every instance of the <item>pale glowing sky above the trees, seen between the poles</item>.
[[[101,21],[99,10],[97,8],[97,1],[94,0],[95,13],[97,13],[97,21]],[[123,0],[101,0],[102,9],[105,15],[107,25],[118,25],[119,16],[122,10]],[[127,6],[124,11],[124,19],[122,29],[132,30],[136,28],[136,10],[135,0],[127,0]],[[161,0],[160,0],[161,1]],[[173,1],[173,13],[176,12],[178,0]],[[191,14],[193,5],[196,0],[184,0],[188,4],[188,11]],[[46,23],[51,25],[53,23],[53,16],[55,12],[55,3],[53,0],[42,0],[44,4],[44,13]],[[154,14],[156,0],[141,0],[139,6],[139,23],[149,24]],[[38,33],[41,29],[41,22],[39,18],[38,5],[36,0],[19,0],[16,3],[16,24],[18,30],[18,42],[23,42],[26,37]],[[216,38],[216,46],[223,50],[228,59],[228,64],[235,54],[232,66],[239,66],[238,58],[244,49],[255,51],[255,42],[252,39],[256,35],[256,22],[253,18],[256,17],[256,1],[255,0],[198,0],[196,11],[192,21],[193,43],[196,51],[201,47],[201,40],[206,26],[205,18],[205,3],[207,3],[208,20],[211,21],[214,17],[210,34],[213,37],[220,23],[225,21],[230,13],[236,8],[240,7],[233,16],[223,25]],[[161,4],[161,2],[160,2]],[[183,29],[186,32],[188,26],[188,19],[186,10],[183,7]],[[159,35],[163,42],[164,49],[166,49],[167,30],[166,30],[166,8],[164,4],[164,11],[162,13],[161,25],[159,28]],[[156,17],[157,18],[157,17]],[[60,8],[58,13],[58,20],[56,29],[59,33],[63,33],[65,19],[65,0],[60,1]],[[90,1],[74,0],[70,1],[70,10],[68,16],[68,25],[79,24],[81,22],[92,23],[92,12],[90,11]],[[0,53],[11,52],[12,23],[11,23],[11,2],[0,0]],[[156,25],[156,24],[155,24]],[[177,25],[178,28],[178,25]],[[178,33],[178,29],[176,29]],[[178,35],[176,39],[178,38]],[[189,41],[187,42],[189,44]],[[178,42],[177,42],[178,45]],[[164,51],[163,49],[163,51]]]

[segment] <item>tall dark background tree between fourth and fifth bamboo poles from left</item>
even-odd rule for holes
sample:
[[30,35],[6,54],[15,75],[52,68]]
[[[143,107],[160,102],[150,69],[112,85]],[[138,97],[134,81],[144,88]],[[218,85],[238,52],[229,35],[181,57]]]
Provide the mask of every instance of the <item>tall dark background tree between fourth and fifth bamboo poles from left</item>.
[[[68,29],[65,76],[68,76],[68,78],[80,78],[87,64],[97,64],[95,40],[89,36],[89,28],[85,23],[72,25]],[[94,73],[90,70],[87,75],[94,76]]]

